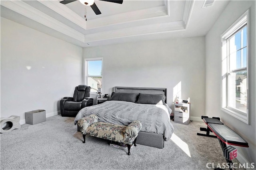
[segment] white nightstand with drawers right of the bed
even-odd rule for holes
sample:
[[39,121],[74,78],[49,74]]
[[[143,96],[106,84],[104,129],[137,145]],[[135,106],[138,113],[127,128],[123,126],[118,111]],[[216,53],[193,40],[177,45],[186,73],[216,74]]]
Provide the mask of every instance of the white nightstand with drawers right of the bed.
[[174,103],[174,122],[190,123],[190,103]]

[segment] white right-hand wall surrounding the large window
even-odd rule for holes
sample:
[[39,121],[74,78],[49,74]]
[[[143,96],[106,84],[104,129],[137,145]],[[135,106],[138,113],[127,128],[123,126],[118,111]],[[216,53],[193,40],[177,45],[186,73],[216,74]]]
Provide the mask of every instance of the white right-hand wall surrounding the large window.
[[[240,162],[256,163],[256,1],[231,1],[206,35],[206,115],[220,117],[240,134],[249,148],[236,147]],[[251,9],[251,125],[228,115],[221,108],[221,34],[246,10]]]

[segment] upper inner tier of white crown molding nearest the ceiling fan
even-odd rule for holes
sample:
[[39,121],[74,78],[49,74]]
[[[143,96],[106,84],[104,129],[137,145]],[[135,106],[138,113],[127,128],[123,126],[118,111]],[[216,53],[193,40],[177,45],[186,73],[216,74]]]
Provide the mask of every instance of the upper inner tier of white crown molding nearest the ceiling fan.
[[[158,6],[154,8],[148,8],[143,10],[136,10],[132,12],[126,12],[122,14],[116,14],[112,16],[106,16],[85,21],[81,16],[70,10],[59,1],[47,1],[37,0],[44,6],[50,8],[54,12],[60,14],[72,23],[82,27],[85,30],[105,27],[109,25],[118,25],[128,23],[132,21],[148,20],[156,17],[169,16],[169,1],[164,3],[164,6]],[[82,5],[82,4],[81,4]]]

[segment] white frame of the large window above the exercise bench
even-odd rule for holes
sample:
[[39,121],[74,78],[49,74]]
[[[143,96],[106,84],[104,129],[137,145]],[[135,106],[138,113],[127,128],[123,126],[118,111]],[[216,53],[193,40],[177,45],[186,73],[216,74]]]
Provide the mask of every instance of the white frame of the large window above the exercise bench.
[[[240,31],[247,26],[247,113],[239,111],[228,106],[228,74],[230,74],[229,69],[229,51],[228,51],[228,39],[232,37],[235,33]],[[242,41],[242,40],[241,40]],[[224,33],[221,35],[222,42],[222,87],[221,87],[221,110],[233,117],[239,119],[240,121],[250,125],[250,9],[248,9],[238,20],[236,20]],[[241,47],[242,48],[242,47]],[[243,71],[243,68],[237,68],[232,70],[232,72]]]

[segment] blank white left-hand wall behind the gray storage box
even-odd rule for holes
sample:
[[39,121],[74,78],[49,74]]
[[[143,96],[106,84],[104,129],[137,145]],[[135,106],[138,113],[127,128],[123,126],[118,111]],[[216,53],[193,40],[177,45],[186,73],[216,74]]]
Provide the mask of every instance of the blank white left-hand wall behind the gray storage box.
[[[29,70],[27,67],[30,66]],[[1,117],[45,109],[82,84],[82,48],[1,17]]]

